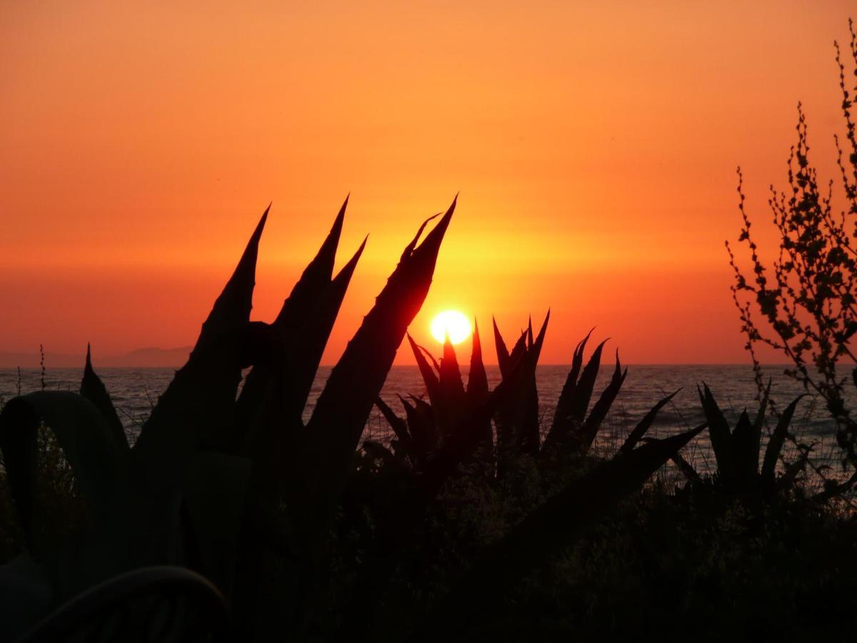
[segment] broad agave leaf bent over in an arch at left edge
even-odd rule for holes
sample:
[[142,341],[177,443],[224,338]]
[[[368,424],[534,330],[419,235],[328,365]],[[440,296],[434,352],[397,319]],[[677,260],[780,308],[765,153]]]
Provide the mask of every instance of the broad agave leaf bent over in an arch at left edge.
[[0,412],[0,450],[21,526],[33,545],[37,436],[44,422],[69,462],[97,519],[110,514],[123,486],[123,450],[98,408],[81,395],[38,391],[9,400]]

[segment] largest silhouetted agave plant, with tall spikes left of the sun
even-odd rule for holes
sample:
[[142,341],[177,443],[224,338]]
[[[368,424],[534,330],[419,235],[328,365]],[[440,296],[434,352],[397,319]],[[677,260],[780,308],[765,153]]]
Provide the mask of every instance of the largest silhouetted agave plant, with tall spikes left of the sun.
[[[133,448],[88,354],[80,394],[41,391],[4,406],[0,449],[38,561],[27,569],[46,579],[39,595],[52,597],[38,610],[17,610],[19,629],[99,580],[159,563],[183,564],[213,580],[231,599],[244,639],[301,627],[320,543],[372,405],[428,293],[455,201],[422,243],[430,219],[405,247],[304,425],[310,385],[363,251],[362,244],[333,276],[346,206],[347,199],[270,324],[249,321],[268,210],[262,214],[187,364]],[[37,550],[33,538],[40,425],[56,436],[89,508],[84,538],[61,551]],[[20,569],[6,568],[7,581]],[[280,602],[287,597],[295,600]]]

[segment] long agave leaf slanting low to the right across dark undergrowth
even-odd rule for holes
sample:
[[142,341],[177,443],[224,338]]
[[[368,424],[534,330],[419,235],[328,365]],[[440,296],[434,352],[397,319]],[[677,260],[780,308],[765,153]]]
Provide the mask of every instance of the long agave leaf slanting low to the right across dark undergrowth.
[[608,460],[530,512],[440,602],[425,623],[423,639],[434,640],[437,632],[431,628],[435,623],[442,622],[445,631],[464,631],[466,622],[497,604],[515,580],[570,544],[578,532],[637,490],[701,430],[656,440]]

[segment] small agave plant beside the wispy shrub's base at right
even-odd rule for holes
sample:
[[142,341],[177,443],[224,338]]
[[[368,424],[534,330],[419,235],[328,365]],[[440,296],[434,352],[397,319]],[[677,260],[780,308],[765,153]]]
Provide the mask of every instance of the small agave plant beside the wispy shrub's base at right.
[[[705,418],[708,421],[711,448],[717,463],[716,482],[724,489],[740,495],[771,494],[788,489],[794,484],[795,478],[806,466],[806,454],[798,460],[785,466],[782,475],[776,478],[776,464],[782,455],[782,447],[788,436],[788,428],[794,418],[798,402],[804,397],[792,400],[777,420],[776,427],[771,431],[764,458],[759,462],[762,448],[762,433],[765,412],[770,396],[770,382],[764,392],[762,403],[756,417],[751,420],[746,409],[741,412],[734,429],[729,429],[726,417],[711,394],[708,385],[698,389],[699,400],[702,403]],[[698,474],[686,465],[681,466],[692,480],[699,478]]]

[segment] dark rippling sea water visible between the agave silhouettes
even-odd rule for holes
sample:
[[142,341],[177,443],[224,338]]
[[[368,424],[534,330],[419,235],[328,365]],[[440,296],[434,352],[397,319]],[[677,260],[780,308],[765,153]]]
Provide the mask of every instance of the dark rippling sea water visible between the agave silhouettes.
[[[566,381],[569,366],[544,365],[536,372],[536,384],[539,392],[540,415],[545,430],[553,418],[556,401],[559,399],[563,384]],[[779,408],[804,391],[800,384],[783,375],[782,366],[767,366],[764,368],[765,377],[772,378],[771,398]],[[488,382],[493,386],[500,381],[497,367],[488,366]],[[140,429],[151,412],[153,404],[158,400],[170,383],[174,370],[172,369],[135,369],[135,368],[105,368],[99,369],[99,376],[105,382],[117,407],[120,418],[126,430],[132,436]],[[602,370],[596,382],[593,398],[607,385],[612,372],[611,364],[602,364]],[[312,415],[315,400],[330,374],[329,367],[322,367],[315,379],[315,384],[309,394],[309,400],[304,412],[304,419]],[[466,376],[466,367],[463,370]],[[48,369],[45,372],[45,388],[53,390],[77,390],[80,386],[82,370]],[[705,382],[709,385],[715,398],[728,415],[731,423],[737,420],[745,408],[754,416],[758,408],[757,390],[753,381],[752,369],[743,365],[631,365],[628,376],[619,396],[602,426],[596,440],[596,451],[609,454],[618,448],[625,436],[644,414],[666,394],[681,388],[671,404],[665,406],[658,414],[656,423],[650,429],[650,435],[663,437],[686,430],[704,422],[702,408],[699,404],[697,385]],[[17,394],[19,376],[17,370],[0,370],[0,396],[9,400]],[[39,370],[21,370],[21,391],[24,393],[41,388],[41,372]],[[404,416],[398,395],[425,394],[423,380],[416,366],[396,366],[387,376],[387,382],[381,392],[381,397],[393,410]],[[857,400],[854,400],[857,402]],[[593,400],[594,402],[594,400]],[[800,442],[814,444],[812,464],[815,466],[831,466],[832,474],[836,475],[841,454],[836,446],[835,425],[824,411],[824,406],[811,395],[801,400],[792,424],[792,430]],[[386,440],[389,427],[377,411],[369,418],[364,437]],[[714,457],[710,450],[707,433],[692,442],[686,448],[685,456],[699,471],[713,471]],[[788,454],[787,454],[788,460]],[[830,475],[830,474],[828,474]],[[837,476],[838,477],[838,476]]]

